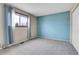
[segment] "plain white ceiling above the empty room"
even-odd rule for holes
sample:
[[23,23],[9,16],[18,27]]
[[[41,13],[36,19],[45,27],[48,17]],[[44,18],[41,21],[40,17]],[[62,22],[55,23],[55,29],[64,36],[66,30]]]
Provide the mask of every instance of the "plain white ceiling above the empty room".
[[29,12],[35,16],[69,11],[73,3],[11,3],[10,5]]

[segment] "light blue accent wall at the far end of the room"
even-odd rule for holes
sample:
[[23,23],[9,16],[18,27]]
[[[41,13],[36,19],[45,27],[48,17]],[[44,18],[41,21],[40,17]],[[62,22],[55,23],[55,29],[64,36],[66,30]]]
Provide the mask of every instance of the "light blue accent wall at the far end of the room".
[[37,17],[37,31],[39,37],[68,41],[69,30],[69,11]]

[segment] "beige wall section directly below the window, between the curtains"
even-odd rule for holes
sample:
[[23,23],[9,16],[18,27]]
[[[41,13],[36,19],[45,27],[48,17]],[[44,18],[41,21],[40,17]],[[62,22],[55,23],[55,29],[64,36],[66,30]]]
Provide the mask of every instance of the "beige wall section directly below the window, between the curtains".
[[27,27],[15,27],[13,30],[14,43],[20,43],[27,39]]

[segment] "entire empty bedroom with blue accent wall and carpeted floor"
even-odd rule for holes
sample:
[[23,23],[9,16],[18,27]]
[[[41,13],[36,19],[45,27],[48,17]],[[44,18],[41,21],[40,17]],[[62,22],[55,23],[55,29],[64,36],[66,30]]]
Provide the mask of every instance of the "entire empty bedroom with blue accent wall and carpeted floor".
[[0,3],[0,55],[78,55],[78,3]]

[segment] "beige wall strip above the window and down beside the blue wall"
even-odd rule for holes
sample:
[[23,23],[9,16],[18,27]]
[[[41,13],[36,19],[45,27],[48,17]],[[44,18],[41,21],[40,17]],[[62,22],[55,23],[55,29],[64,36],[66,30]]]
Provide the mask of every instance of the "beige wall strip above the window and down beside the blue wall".
[[36,16],[33,16],[32,14],[29,14],[28,12],[23,12],[22,10],[15,9],[15,11],[18,11],[19,13],[25,14],[30,16],[31,19],[31,39],[37,37],[37,19]]

